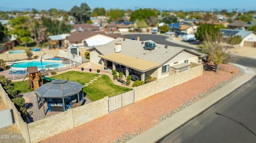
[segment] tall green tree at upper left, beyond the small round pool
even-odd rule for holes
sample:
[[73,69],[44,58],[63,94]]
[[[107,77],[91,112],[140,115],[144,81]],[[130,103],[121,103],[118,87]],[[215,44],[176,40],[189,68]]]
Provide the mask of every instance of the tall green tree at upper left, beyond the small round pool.
[[10,24],[12,27],[10,33],[13,35],[17,35],[17,39],[25,43],[25,47],[27,47],[27,43],[31,41],[29,18],[25,16],[18,16],[17,18],[12,19],[10,21]]

